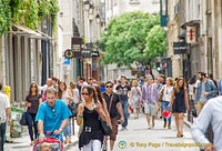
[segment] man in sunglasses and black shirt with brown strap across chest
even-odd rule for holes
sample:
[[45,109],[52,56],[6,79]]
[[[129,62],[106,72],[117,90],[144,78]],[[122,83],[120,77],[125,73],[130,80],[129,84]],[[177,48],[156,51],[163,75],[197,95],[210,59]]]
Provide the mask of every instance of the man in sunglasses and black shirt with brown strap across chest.
[[108,111],[110,113],[110,119],[112,123],[112,134],[110,135],[110,150],[113,151],[114,141],[118,134],[118,111],[121,115],[121,124],[124,121],[124,117],[119,95],[113,92],[113,83],[111,81],[108,81],[105,83],[105,92],[103,93],[103,98],[107,102]]

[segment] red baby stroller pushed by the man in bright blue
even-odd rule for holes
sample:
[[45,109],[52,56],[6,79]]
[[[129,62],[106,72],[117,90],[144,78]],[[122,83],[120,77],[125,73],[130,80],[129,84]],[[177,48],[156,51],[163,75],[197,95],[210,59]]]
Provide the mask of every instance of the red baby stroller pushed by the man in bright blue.
[[[53,133],[53,132],[50,132],[50,133],[47,132],[47,134],[51,134],[51,133]],[[62,141],[61,141],[61,135],[59,135],[59,139],[53,138],[53,137],[47,137],[43,142],[40,142],[38,140],[37,143],[34,144],[32,151],[41,151],[42,143],[49,144],[50,151],[63,151],[63,144],[62,144]]]

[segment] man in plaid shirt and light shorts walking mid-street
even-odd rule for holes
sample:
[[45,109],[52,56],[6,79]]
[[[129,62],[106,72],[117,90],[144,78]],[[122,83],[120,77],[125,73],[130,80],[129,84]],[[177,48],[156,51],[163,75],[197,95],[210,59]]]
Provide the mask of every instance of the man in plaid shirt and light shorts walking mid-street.
[[155,101],[158,100],[158,89],[157,87],[152,83],[152,77],[148,77],[148,83],[147,85],[142,87],[142,97],[141,101],[144,104],[144,112],[147,114],[147,121],[148,121],[148,129],[151,129],[150,125],[150,115],[152,115],[152,128],[154,128],[154,119],[155,119],[155,111],[157,111],[157,105]]

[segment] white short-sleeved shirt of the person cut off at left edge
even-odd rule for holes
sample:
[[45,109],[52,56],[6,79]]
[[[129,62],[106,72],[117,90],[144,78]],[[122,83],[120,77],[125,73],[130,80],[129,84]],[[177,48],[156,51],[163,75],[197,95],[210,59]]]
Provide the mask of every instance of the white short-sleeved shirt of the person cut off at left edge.
[[6,109],[10,108],[9,97],[0,93],[0,123],[4,123],[7,121]]

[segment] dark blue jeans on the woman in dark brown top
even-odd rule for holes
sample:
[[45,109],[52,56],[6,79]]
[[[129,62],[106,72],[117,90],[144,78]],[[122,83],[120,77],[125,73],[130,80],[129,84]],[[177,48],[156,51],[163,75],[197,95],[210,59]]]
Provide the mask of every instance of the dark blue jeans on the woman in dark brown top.
[[[28,113],[27,114],[27,120],[29,123],[29,125],[28,125],[29,135],[30,135],[31,141],[33,141],[38,137],[38,127],[37,127],[37,122],[36,122],[36,117],[37,117],[37,113]],[[33,139],[33,129],[32,129],[33,127],[34,127],[34,139]]]

